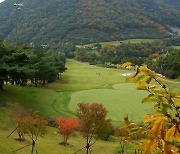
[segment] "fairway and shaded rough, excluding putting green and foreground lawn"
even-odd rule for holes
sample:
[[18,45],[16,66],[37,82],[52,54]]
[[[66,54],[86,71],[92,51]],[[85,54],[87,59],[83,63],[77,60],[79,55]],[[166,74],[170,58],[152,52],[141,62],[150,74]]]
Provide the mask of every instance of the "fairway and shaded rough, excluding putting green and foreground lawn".
[[74,114],[68,108],[71,95],[87,89],[98,89],[107,85],[122,83],[125,77],[121,74],[132,72],[91,66],[68,60],[68,70],[62,79],[48,87],[19,87],[5,85],[0,93],[0,102],[5,102],[5,107],[0,107],[0,122],[11,123],[10,116],[23,109],[33,109],[45,117],[68,117]]

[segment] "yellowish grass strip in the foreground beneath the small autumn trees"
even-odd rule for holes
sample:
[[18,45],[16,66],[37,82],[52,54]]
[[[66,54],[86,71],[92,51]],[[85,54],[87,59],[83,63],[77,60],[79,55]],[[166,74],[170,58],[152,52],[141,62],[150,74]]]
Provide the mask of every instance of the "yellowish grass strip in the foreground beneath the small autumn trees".
[[[37,140],[36,148],[39,154],[73,154],[85,146],[85,140],[78,133],[75,133],[75,135],[68,140],[68,146],[60,145],[59,143],[62,142],[63,137],[57,134],[57,129],[50,127],[47,129],[48,134],[46,134],[44,137],[39,137]],[[17,133],[14,133],[12,136],[7,138],[11,131],[12,129],[1,130],[3,133],[0,133],[0,154],[30,154],[31,146],[17,152],[13,152],[30,144],[31,140],[28,138],[28,136],[26,136],[27,140],[25,142],[16,141],[18,138]],[[111,141],[97,141],[96,144],[93,145],[92,150],[95,154],[114,154],[117,153],[118,147],[118,140],[112,139]],[[125,149],[129,153],[133,153],[132,145],[129,145]],[[86,153],[85,149],[78,152],[78,154],[84,153]]]

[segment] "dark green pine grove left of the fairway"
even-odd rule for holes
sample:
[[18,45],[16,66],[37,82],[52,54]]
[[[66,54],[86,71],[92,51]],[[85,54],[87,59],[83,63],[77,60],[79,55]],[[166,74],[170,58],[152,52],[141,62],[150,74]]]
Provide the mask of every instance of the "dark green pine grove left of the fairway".
[[0,89],[3,84],[46,85],[66,70],[65,55],[41,46],[11,45],[0,41]]

